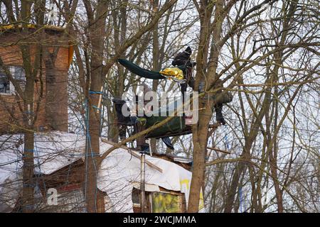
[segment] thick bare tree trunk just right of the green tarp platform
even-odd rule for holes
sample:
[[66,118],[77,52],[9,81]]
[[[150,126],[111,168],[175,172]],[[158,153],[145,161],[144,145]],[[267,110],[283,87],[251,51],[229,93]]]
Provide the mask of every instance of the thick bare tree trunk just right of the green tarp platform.
[[[219,26],[222,18],[220,15],[220,6],[223,1],[217,1],[218,8],[215,9],[215,23],[213,38],[218,40],[220,38],[221,27]],[[198,44],[198,55],[196,57],[196,83],[195,90],[198,91],[199,82],[206,82],[205,87],[212,87],[213,80],[215,79],[215,72],[218,66],[219,52],[215,51],[210,59],[212,64],[208,68],[208,51],[210,43],[210,18],[213,12],[213,6],[206,2],[201,2],[201,9],[198,11],[200,16],[200,38]],[[219,18],[217,20],[217,18]],[[218,47],[215,47],[218,48]],[[201,96],[199,99],[198,124],[193,125],[193,172],[190,187],[190,196],[188,200],[188,212],[198,212],[200,204],[200,192],[201,187],[204,184],[205,173],[205,155],[206,146],[208,143],[208,126],[213,114],[213,99],[205,99],[205,96]]]

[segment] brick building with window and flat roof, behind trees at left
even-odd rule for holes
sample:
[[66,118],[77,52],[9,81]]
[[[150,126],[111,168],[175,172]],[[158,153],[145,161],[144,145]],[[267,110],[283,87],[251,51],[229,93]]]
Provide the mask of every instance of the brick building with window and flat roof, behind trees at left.
[[23,97],[18,95],[18,89],[24,94],[28,79],[23,62],[31,62],[31,70],[38,62],[33,92],[36,131],[68,131],[72,57],[73,46],[64,28],[30,24],[22,31],[21,26],[0,27],[0,133],[19,132],[23,126]]

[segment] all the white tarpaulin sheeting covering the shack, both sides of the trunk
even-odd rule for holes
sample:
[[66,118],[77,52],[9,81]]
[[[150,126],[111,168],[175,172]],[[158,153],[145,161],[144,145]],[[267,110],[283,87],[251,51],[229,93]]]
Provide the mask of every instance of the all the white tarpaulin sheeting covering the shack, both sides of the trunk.
[[[1,135],[0,144],[0,197],[1,192],[8,193],[8,190],[18,194],[22,185],[19,173],[22,167],[23,135]],[[105,153],[109,148],[112,148],[111,144],[100,142],[100,153]],[[36,133],[35,172],[49,175],[80,158],[83,159],[84,151],[85,135],[63,132]],[[154,167],[146,165],[146,183],[150,184],[150,190],[154,192],[158,186],[183,192],[188,203],[191,172],[173,162],[149,155],[146,155],[146,160],[163,170],[159,172]],[[118,148],[103,160],[98,176],[97,187],[107,193],[108,201],[112,203],[107,206],[110,211],[132,212],[132,188],[140,182],[139,158],[131,155],[127,149]],[[6,205],[13,207],[14,203],[6,202]],[[200,207],[201,211],[204,211],[203,199]]]

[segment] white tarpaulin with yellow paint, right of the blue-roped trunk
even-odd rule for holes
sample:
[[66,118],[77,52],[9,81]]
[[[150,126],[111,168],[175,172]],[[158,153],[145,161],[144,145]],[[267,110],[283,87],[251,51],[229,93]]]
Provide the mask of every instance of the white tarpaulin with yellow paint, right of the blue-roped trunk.
[[[110,145],[111,146],[111,145]],[[146,155],[146,160],[160,167],[163,172],[146,165],[146,184],[155,184],[165,189],[182,192],[188,196],[192,173],[172,162]],[[102,162],[97,187],[107,192],[114,211],[133,212],[132,188],[140,181],[140,160],[125,149],[114,150]],[[200,212],[204,212],[201,193]]]

